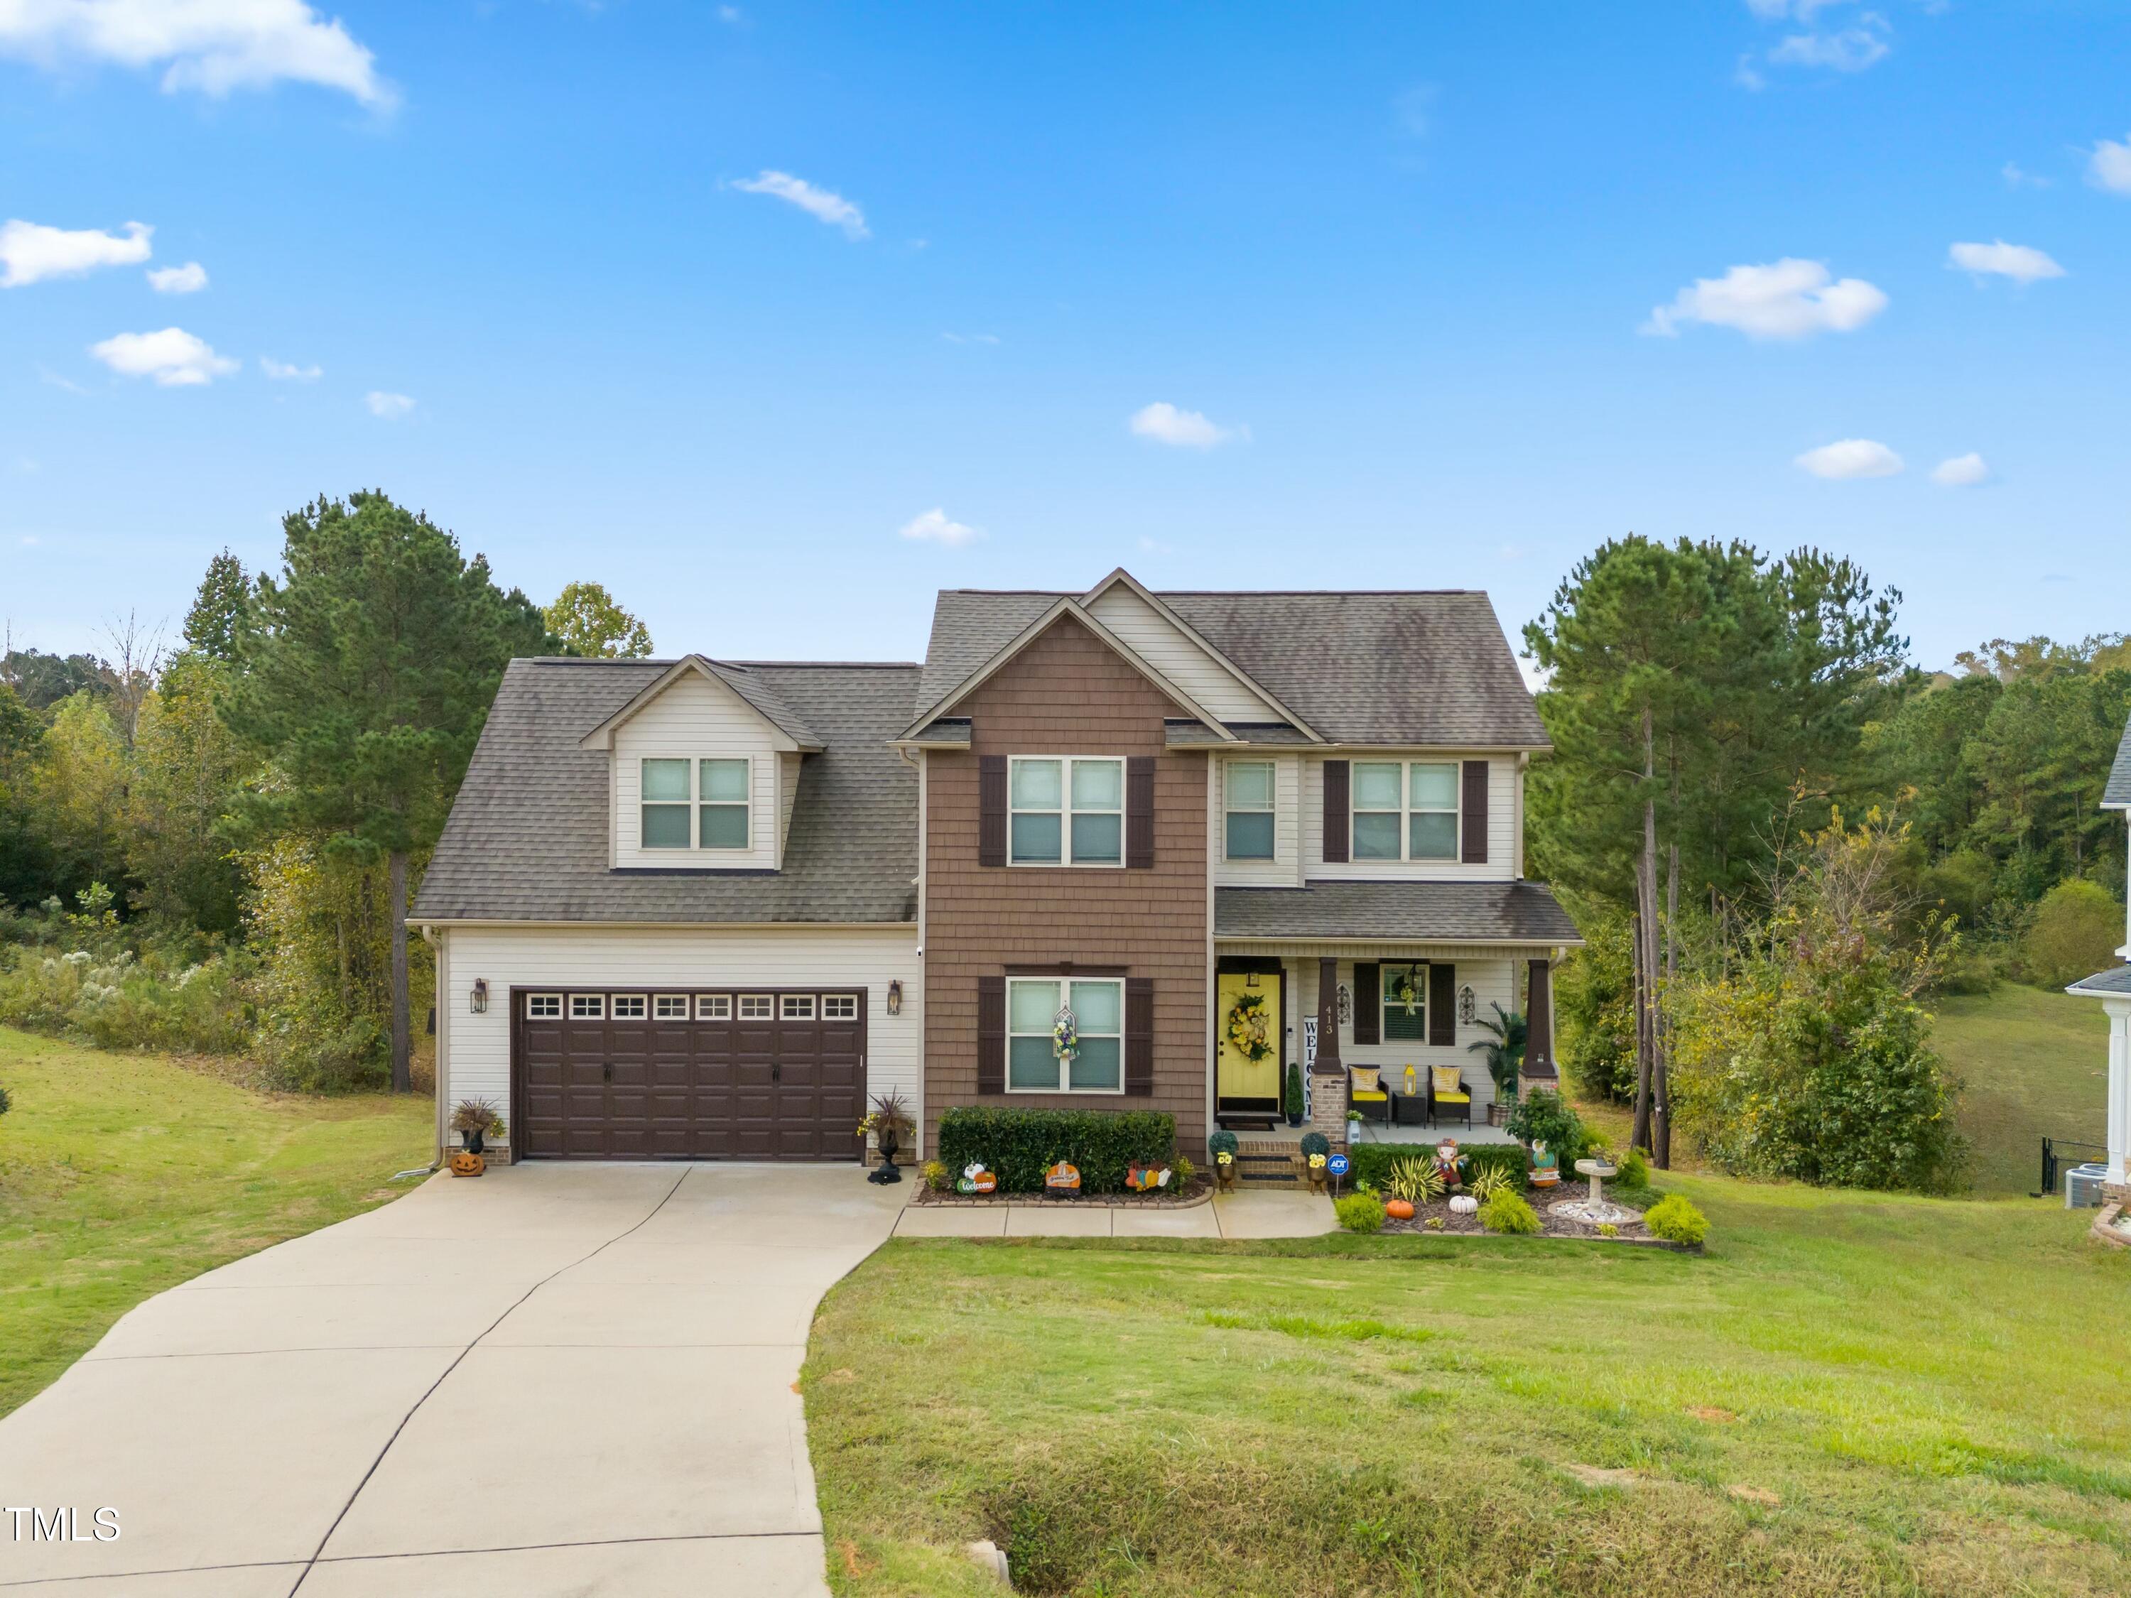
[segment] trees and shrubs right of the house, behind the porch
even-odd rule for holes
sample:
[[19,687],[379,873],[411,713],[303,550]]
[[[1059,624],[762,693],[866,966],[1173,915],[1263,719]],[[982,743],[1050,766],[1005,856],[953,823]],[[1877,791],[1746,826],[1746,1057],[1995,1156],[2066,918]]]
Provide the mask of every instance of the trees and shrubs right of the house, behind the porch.
[[[1660,1165],[1677,1112],[1709,1153],[1747,1089],[1767,1102],[1784,1097],[1777,1078],[1796,1089],[1813,1074],[1818,1044],[1775,1046],[1767,1008],[1733,1008],[1730,1036],[1683,1031],[1720,993],[1767,978],[1773,1001],[1818,972],[1833,1004],[1837,978],[1862,978],[1869,997],[1845,989],[1854,1021],[1905,1018],[1886,1070],[1929,1078],[1914,1095],[1929,1119],[1952,1085],[1929,1027],[1909,1025],[1920,999],[2080,959],[2097,969],[2120,937],[2125,829],[2097,805],[2131,718],[2131,643],[1995,639],[1924,671],[1899,607],[1897,590],[1820,550],[1626,537],[1526,626],[1556,746],[1532,767],[1530,854],[1590,937],[1562,982],[1564,1055],[1585,1091],[1632,1102],[1634,1144]],[[1856,1040],[1824,1053],[1854,1061]],[[1833,1114],[1811,1134],[1828,1106],[1790,1099],[1792,1144],[1905,1138]],[[1952,1144],[1907,1140],[1931,1148],[1877,1185],[1929,1187],[1958,1161]],[[1756,1146],[1733,1161],[1871,1165],[1854,1153]]]

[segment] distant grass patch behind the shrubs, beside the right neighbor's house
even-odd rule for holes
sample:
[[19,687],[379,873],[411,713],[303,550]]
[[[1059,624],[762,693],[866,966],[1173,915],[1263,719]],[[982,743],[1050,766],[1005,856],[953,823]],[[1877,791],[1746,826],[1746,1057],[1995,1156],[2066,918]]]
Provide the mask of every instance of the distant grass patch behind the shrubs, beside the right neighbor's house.
[[2095,999],[2005,982],[1937,1010],[1933,1038],[1967,1082],[1961,1129],[1978,1193],[2033,1193],[2044,1136],[2101,1142],[2110,1027]]

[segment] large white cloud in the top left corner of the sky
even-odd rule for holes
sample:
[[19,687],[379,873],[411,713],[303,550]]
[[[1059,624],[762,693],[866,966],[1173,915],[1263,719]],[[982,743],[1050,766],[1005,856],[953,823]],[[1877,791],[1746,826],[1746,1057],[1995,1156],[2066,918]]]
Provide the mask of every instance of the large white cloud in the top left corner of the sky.
[[377,58],[303,0],[0,0],[0,55],[162,66],[162,87],[224,96],[277,81],[388,107]]

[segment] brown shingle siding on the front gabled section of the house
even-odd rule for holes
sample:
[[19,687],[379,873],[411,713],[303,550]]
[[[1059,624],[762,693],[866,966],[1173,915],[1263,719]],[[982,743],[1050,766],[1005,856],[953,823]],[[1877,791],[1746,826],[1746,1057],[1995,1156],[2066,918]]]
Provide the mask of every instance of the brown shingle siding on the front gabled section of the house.
[[[927,752],[925,1104],[938,1119],[976,1093],[976,991],[1008,965],[1123,967],[1155,984],[1153,1095],[1012,1093],[989,1104],[1168,1110],[1178,1142],[1206,1138],[1206,756],[1166,748],[1178,707],[1093,633],[1063,618],[957,714],[970,752]],[[978,865],[978,761],[1115,754],[1155,761],[1155,863]]]

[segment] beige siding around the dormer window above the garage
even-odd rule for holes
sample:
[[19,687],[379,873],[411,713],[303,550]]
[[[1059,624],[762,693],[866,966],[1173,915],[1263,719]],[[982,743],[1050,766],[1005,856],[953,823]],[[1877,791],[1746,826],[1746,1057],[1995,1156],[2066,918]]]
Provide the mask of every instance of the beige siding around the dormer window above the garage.
[[[641,788],[644,761],[750,761],[748,831],[750,846],[737,848],[644,848]],[[693,769],[693,767],[690,767]],[[699,673],[676,678],[658,699],[614,733],[614,863],[616,865],[727,865],[776,869],[780,839],[780,761],[769,724],[722,682]],[[688,816],[690,837],[697,816]]]

